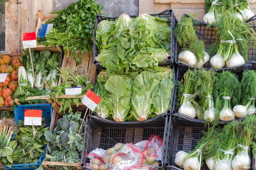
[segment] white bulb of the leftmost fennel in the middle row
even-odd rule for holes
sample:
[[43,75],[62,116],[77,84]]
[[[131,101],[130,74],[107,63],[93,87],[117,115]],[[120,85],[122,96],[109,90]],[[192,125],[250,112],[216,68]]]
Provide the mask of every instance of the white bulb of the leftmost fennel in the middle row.
[[178,108],[178,113],[190,118],[196,118],[197,112],[195,107],[188,101],[188,99],[192,96],[191,94],[183,94],[184,100],[181,106]]

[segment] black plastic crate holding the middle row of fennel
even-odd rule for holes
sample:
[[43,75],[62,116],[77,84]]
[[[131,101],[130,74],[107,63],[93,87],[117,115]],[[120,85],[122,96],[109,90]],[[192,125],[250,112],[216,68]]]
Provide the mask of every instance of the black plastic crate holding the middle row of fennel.
[[[177,75],[176,75],[176,84],[182,79],[183,75],[185,74],[185,72],[188,70],[189,68],[184,68],[184,67],[180,67],[178,66],[177,68]],[[253,65],[252,64],[247,64],[247,65],[243,65],[242,67],[240,68],[236,68],[236,69],[231,69],[230,71],[232,71],[233,73],[235,73],[237,76],[238,76],[238,79],[239,81],[241,81],[242,79],[242,73],[244,70],[247,70],[247,69],[253,69]],[[224,69],[224,70],[227,70],[227,69]],[[217,72],[222,72],[223,70],[218,70]],[[175,94],[174,94],[174,101],[173,101],[173,110],[172,110],[172,114],[177,114],[179,115],[178,113],[178,108],[176,106],[176,100],[177,100],[177,93],[178,93],[178,88],[177,88],[177,85],[175,86]],[[203,119],[193,119],[193,118],[190,118],[190,117],[186,117],[186,116],[183,116],[183,115],[179,115],[179,119],[183,119],[184,121],[193,121],[193,122],[197,122],[199,124],[204,124],[206,121],[203,120]],[[240,119],[235,119],[235,121],[237,120],[242,120],[243,118],[240,118]],[[233,120],[231,120],[233,121]],[[219,124],[226,124],[230,121],[219,121],[218,123]]]

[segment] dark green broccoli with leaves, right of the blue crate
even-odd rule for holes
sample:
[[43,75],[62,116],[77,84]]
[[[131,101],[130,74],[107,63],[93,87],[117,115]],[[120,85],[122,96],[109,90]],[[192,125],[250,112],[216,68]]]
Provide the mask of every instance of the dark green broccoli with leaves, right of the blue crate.
[[[80,117],[81,112],[65,114],[63,118],[58,119],[53,132],[44,133],[45,139],[50,142],[47,148],[49,152],[46,154],[47,160],[67,163],[80,161],[83,148],[83,134],[78,134],[82,123]],[[58,170],[65,170],[65,168],[59,167]]]

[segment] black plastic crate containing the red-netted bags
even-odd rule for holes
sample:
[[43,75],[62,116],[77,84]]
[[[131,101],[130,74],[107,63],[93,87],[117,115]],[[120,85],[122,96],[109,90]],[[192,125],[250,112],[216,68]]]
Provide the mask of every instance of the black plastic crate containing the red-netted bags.
[[160,115],[151,120],[143,122],[113,122],[106,119],[99,119],[94,116],[87,116],[84,128],[83,145],[81,155],[81,167],[86,170],[86,153],[90,153],[96,148],[107,150],[117,143],[137,143],[148,140],[151,135],[157,135],[163,140],[163,154],[159,162],[158,170],[164,169],[168,130],[168,116]]

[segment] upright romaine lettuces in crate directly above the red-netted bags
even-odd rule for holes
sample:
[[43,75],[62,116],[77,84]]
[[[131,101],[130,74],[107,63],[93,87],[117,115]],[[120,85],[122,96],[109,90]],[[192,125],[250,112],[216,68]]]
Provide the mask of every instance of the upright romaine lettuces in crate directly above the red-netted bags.
[[173,71],[167,67],[153,67],[128,74],[98,75],[96,93],[101,97],[97,114],[115,121],[139,120],[165,113],[172,99]]

